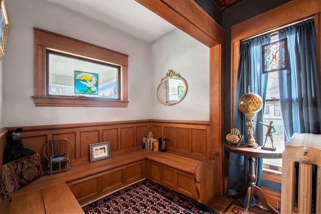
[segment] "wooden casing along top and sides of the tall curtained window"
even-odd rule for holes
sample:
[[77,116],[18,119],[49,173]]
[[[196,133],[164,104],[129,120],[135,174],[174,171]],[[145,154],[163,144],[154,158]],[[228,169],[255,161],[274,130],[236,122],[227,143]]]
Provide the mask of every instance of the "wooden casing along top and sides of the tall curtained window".
[[[299,12],[299,13],[293,13]],[[315,16],[321,12],[319,0],[293,0],[276,7],[249,20],[231,27],[231,115],[234,109],[235,84],[238,60],[240,56],[240,41],[246,38],[279,28],[306,17]],[[277,17],[277,19],[275,19]],[[273,21],[271,21],[273,20]],[[320,18],[316,16],[316,42],[319,63],[320,56]],[[320,65],[320,64],[319,64]],[[319,66],[320,69],[320,66]],[[319,73],[321,74],[320,70]],[[320,77],[321,79],[321,77]],[[232,120],[233,116],[231,117]],[[232,121],[231,121],[232,124]],[[232,126],[231,126],[232,127]]]

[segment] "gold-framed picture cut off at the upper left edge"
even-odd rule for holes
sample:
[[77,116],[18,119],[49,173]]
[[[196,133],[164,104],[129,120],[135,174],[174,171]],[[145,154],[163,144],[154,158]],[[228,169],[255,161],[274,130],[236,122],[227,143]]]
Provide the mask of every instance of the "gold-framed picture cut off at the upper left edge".
[[7,34],[8,34],[8,16],[5,6],[5,1],[1,1],[0,6],[0,60],[2,60],[3,56],[5,56],[5,48],[7,42]]

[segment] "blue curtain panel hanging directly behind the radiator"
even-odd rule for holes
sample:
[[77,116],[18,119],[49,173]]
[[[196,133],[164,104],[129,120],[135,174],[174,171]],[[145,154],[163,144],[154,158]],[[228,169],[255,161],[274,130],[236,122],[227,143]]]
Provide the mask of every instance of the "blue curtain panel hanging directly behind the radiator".
[[[314,19],[278,32],[287,38],[288,70],[279,71],[279,91],[285,142],[294,133],[321,133],[321,94]],[[321,142],[320,142],[321,143]]]

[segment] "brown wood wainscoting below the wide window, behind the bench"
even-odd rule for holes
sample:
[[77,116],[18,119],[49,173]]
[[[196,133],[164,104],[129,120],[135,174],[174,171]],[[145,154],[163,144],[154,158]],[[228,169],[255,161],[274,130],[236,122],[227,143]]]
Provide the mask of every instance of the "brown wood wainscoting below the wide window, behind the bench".
[[[10,132],[17,127],[8,128]],[[114,121],[20,127],[21,140],[25,148],[38,152],[46,165],[44,146],[56,138],[67,138],[73,146],[71,163],[90,160],[89,145],[110,142],[111,155],[141,149],[141,136],[150,130],[149,120]],[[3,154],[3,152],[2,152]]]

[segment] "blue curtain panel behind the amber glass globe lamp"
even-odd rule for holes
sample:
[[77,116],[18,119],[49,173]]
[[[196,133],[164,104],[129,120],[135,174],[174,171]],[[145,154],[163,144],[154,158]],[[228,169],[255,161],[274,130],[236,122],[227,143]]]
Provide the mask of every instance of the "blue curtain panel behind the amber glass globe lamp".
[[[265,100],[267,75],[262,74],[262,45],[269,43],[270,35],[264,35],[250,39],[241,43],[240,58],[238,64],[234,112],[233,112],[233,128],[238,128],[244,136],[244,141],[248,141],[247,126],[248,119],[238,110],[237,103],[239,98],[247,93],[247,87],[250,86],[251,92],[260,95]],[[264,109],[259,111],[253,120],[254,123],[254,139],[259,145],[263,145],[263,126],[259,124],[263,121]],[[257,159],[257,185],[261,184],[263,160]],[[248,157],[229,154],[229,176],[227,184],[227,196],[235,196],[239,193],[244,183],[248,182]],[[246,199],[240,198],[240,202],[245,205]],[[250,204],[253,206],[253,204]]]

